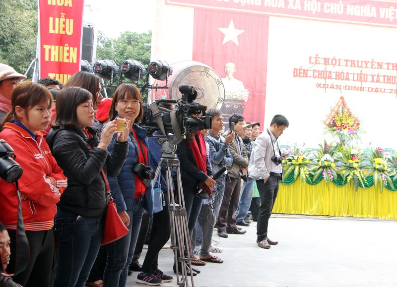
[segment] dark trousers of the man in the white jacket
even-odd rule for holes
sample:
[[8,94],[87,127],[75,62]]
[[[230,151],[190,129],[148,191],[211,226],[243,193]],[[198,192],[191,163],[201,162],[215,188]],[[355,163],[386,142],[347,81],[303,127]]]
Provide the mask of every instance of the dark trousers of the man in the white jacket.
[[278,193],[279,180],[275,176],[269,176],[266,183],[264,180],[257,180],[257,187],[261,197],[261,207],[259,209],[258,223],[257,223],[257,237],[262,241],[267,237],[267,226],[271,210],[276,201]]

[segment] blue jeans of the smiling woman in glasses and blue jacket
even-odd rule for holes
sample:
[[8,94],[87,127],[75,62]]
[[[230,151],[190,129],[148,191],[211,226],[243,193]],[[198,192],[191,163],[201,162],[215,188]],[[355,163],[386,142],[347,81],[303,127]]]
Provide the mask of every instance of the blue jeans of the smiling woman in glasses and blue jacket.
[[142,222],[142,201],[134,199],[132,208],[127,210],[127,214],[130,217],[130,225],[128,226],[130,232],[106,245],[108,258],[103,274],[104,286],[124,287],[127,284],[128,267],[132,262],[133,251]]

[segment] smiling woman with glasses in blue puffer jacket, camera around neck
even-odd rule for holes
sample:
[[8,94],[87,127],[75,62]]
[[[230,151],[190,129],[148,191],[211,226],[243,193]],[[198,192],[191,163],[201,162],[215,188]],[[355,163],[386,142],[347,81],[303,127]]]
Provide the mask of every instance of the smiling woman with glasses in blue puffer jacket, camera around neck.
[[[149,215],[153,213],[153,189],[150,179],[145,176],[145,173],[148,175],[147,172],[150,172],[151,169],[148,171],[144,168],[149,165],[146,129],[136,124],[142,115],[143,106],[139,89],[133,84],[121,84],[113,95],[109,118],[118,121],[120,118],[130,120],[126,124],[130,131],[128,136],[129,151],[120,174],[115,178],[108,179],[117,211],[130,232],[106,246],[108,256],[103,276],[104,286],[126,286],[128,267],[132,261],[143,208]],[[113,136],[113,140],[109,144],[110,152],[115,142],[116,135]],[[145,274],[144,276],[138,275],[138,282],[158,285],[162,283],[162,280],[153,274]]]

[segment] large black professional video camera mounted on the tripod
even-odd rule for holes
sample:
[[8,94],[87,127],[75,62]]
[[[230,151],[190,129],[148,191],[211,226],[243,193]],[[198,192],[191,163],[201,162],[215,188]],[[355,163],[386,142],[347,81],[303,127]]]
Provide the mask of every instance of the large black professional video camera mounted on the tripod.
[[[177,144],[186,138],[187,132],[197,132],[211,128],[212,118],[205,115],[206,106],[199,105],[194,101],[197,91],[192,85],[181,85],[178,87],[182,94],[179,100],[156,100],[150,105],[143,107],[141,126],[152,134],[155,130],[161,130],[167,139]],[[160,107],[161,103],[175,104],[175,108],[168,110]],[[192,114],[204,114],[195,117]],[[173,136],[169,134],[173,134]]]

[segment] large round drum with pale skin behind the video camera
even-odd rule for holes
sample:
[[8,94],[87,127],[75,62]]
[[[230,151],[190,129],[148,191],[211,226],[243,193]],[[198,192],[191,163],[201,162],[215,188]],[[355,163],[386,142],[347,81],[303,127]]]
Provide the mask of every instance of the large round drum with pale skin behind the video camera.
[[197,91],[200,105],[210,109],[220,110],[225,100],[225,88],[218,74],[209,66],[197,61],[180,61],[173,63],[173,73],[168,77],[166,89],[157,88],[166,86],[166,81],[155,80],[153,89],[149,92],[150,102],[159,99],[181,99],[180,85],[192,85]]

